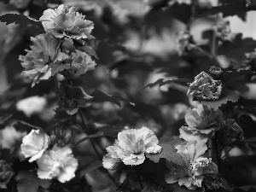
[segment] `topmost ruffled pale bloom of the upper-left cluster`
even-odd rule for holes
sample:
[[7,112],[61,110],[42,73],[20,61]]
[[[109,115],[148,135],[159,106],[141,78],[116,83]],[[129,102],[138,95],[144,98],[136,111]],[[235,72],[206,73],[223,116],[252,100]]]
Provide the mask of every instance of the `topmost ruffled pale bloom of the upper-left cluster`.
[[55,38],[93,38],[90,35],[94,24],[90,20],[84,20],[84,15],[74,11],[74,7],[68,8],[61,4],[57,9],[46,9],[39,20],[42,21],[44,30]]

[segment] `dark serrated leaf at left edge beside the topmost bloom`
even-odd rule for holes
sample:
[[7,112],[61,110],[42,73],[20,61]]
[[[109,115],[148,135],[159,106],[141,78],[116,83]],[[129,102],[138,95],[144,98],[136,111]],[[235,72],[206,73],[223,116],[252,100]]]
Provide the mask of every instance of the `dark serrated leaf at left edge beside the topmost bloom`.
[[29,25],[32,24],[34,26],[43,27],[42,22],[39,20],[33,20],[32,18],[26,15],[19,15],[19,14],[6,14],[0,16],[1,22],[6,22],[7,25],[11,23],[20,24],[20,25]]

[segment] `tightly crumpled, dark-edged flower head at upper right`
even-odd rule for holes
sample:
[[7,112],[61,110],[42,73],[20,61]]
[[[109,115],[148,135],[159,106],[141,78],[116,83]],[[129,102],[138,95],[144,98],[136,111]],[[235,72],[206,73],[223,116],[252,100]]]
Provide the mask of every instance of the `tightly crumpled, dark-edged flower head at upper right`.
[[221,90],[221,81],[213,80],[210,75],[201,72],[195,77],[194,82],[189,85],[187,95],[197,101],[216,101],[221,94]]

